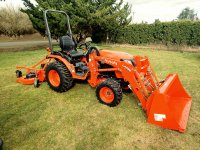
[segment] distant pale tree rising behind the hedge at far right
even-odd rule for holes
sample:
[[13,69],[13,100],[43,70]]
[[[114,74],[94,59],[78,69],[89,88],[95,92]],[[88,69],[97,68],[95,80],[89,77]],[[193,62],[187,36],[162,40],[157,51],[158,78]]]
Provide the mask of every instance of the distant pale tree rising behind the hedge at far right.
[[182,12],[179,14],[178,19],[188,19],[188,20],[196,20],[197,14],[195,13],[194,9],[190,9],[189,7],[186,7],[182,10]]

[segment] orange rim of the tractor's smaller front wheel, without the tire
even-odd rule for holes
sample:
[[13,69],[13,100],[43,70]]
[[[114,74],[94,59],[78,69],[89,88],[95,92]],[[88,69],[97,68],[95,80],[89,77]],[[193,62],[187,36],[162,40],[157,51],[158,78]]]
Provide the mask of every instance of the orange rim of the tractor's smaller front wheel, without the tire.
[[114,93],[113,91],[108,88],[108,87],[103,87],[100,90],[100,98],[105,102],[105,103],[111,103],[114,100]]

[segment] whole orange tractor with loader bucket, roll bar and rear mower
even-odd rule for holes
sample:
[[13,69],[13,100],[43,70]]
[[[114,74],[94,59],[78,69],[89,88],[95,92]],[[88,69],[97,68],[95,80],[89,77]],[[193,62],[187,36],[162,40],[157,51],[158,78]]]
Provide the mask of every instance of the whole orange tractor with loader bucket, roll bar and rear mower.
[[[60,38],[59,51],[52,46],[47,21],[47,13],[52,12],[63,13],[67,18],[68,35]],[[177,74],[170,74],[159,82],[147,57],[99,50],[88,43],[82,44],[82,50],[78,51],[69,17],[64,11],[46,10],[44,19],[49,54],[33,67],[17,66],[17,82],[38,87],[41,82],[47,81],[54,91],[66,92],[75,85],[75,80],[86,80],[90,86],[96,87],[97,99],[111,107],[121,102],[122,89],[129,89],[147,113],[149,123],[185,131],[192,98]],[[18,69],[26,69],[26,75],[23,76]]]

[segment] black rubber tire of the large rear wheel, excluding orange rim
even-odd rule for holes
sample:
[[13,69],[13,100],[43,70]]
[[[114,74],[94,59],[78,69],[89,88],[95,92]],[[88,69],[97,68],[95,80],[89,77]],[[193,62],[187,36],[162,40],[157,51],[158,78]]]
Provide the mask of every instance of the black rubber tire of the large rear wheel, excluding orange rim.
[[[59,76],[60,76],[61,83],[58,87],[54,87],[49,82],[48,72],[51,69],[56,70],[58,72]],[[74,79],[72,78],[70,71],[67,69],[67,67],[63,63],[61,63],[59,61],[52,62],[47,66],[47,68],[46,68],[46,79],[47,79],[47,83],[50,86],[50,88],[53,89],[56,92],[60,92],[60,93],[66,92],[74,86]]]

